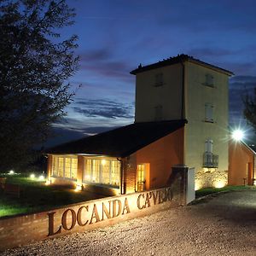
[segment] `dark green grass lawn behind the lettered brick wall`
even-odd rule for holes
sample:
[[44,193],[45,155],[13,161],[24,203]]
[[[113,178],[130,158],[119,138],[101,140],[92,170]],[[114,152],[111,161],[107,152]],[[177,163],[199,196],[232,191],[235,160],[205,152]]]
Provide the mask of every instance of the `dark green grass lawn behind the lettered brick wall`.
[[19,213],[42,212],[80,201],[102,198],[87,191],[76,192],[74,189],[59,186],[46,186],[44,182],[29,177],[6,176],[6,183],[20,185],[20,198],[4,195],[0,189],[0,218]]

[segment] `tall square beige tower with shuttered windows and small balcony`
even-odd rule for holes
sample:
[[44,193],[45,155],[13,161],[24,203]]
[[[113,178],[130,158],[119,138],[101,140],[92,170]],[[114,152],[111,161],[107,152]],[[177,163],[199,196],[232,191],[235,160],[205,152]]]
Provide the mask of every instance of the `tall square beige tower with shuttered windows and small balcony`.
[[195,189],[227,184],[231,73],[190,57],[131,73],[137,76],[136,122],[187,119],[184,164],[195,167]]

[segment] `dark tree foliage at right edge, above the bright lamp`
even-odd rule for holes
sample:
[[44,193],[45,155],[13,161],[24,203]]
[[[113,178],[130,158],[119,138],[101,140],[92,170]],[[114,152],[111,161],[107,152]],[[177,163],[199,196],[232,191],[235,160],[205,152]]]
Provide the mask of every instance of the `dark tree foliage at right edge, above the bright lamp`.
[[244,117],[247,119],[247,122],[256,129],[256,88],[253,90],[253,95],[249,95],[247,93],[246,96],[243,97]]

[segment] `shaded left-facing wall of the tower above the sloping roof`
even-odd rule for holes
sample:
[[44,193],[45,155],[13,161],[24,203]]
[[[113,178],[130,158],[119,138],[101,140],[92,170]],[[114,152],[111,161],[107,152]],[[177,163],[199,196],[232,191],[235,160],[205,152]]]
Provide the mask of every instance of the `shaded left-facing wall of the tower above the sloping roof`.
[[[163,73],[164,84],[155,86],[155,75]],[[155,120],[155,107],[162,105],[164,119],[181,118],[182,66],[159,67],[136,76],[135,121]]]

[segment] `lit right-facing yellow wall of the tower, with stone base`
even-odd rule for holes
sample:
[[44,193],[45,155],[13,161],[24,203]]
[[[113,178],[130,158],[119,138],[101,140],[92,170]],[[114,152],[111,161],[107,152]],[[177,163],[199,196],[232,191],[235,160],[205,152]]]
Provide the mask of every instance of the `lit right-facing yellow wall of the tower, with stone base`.
[[[185,75],[185,164],[195,167],[195,184],[200,187],[211,187],[218,181],[227,183],[228,171],[228,79],[207,67],[189,61],[186,62]],[[206,74],[214,78],[214,86],[205,84]],[[213,105],[213,123],[205,122],[205,104]],[[218,168],[202,168],[203,153],[207,139],[213,141],[213,154],[218,154]]]

